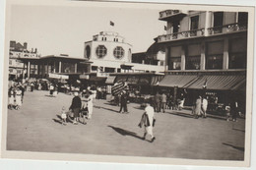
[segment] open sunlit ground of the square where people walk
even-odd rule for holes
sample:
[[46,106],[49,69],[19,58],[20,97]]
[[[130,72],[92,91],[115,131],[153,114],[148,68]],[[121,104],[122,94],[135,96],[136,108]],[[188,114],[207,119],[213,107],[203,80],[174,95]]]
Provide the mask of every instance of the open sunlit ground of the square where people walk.
[[7,150],[151,156],[189,159],[243,160],[245,121],[194,119],[187,111],[156,113],[155,142],[141,140],[138,127],[143,110],[128,105],[129,114],[97,100],[93,119],[87,125],[58,123],[62,106],[71,95],[27,91],[20,110],[8,111]]

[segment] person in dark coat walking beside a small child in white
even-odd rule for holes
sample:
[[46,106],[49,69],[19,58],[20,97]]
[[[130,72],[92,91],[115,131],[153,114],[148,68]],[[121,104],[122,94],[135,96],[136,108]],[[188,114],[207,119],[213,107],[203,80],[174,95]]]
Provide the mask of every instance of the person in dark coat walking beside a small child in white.
[[79,112],[81,110],[82,106],[82,101],[81,98],[78,96],[78,92],[74,92],[74,98],[72,99],[71,106],[69,107],[69,110],[72,110],[74,112],[74,122],[73,124],[77,125],[78,124],[78,117],[79,117]]

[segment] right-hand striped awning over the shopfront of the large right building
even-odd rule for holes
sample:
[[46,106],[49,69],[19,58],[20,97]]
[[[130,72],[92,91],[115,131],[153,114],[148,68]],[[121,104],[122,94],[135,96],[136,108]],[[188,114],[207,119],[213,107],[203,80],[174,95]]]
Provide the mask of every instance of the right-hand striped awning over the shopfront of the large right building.
[[206,75],[199,78],[196,82],[188,85],[188,88],[202,89],[203,85],[207,85],[207,89],[219,90],[236,90],[246,82],[244,75]]

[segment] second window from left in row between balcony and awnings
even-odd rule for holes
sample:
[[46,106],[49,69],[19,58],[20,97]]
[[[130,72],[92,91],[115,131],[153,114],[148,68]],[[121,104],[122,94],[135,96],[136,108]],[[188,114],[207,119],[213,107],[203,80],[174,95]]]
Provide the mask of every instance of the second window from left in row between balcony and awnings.
[[186,55],[186,70],[200,70],[201,61],[201,45],[191,44],[188,45]]

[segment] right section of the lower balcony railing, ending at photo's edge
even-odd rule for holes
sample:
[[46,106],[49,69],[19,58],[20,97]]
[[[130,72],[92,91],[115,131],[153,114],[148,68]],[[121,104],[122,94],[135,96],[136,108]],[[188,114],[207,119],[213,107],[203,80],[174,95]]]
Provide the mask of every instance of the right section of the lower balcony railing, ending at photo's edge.
[[230,25],[224,25],[221,27],[208,28],[208,33],[211,35],[211,34],[227,33],[227,32],[234,32],[234,31],[241,31],[241,30],[247,30],[247,26],[235,23]]

